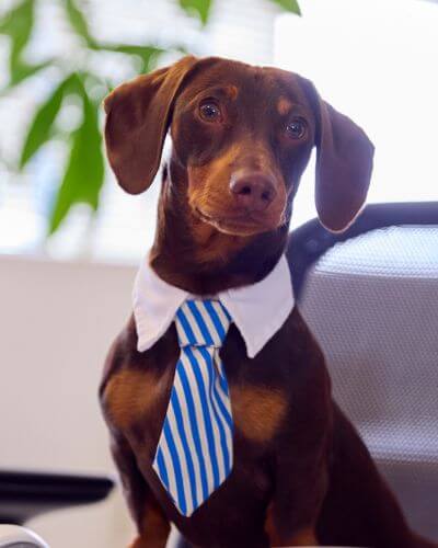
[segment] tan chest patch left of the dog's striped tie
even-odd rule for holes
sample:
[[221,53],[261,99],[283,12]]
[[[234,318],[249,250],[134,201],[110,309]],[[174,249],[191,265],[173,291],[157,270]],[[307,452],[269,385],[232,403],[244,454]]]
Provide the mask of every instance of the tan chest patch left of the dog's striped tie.
[[103,404],[107,418],[117,427],[127,427],[152,410],[166,388],[168,377],[139,369],[122,369],[106,385]]

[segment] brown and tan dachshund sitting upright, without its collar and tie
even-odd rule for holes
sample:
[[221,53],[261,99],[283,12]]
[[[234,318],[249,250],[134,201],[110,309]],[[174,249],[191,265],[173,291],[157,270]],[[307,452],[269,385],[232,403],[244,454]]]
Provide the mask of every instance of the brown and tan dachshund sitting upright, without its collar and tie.
[[[119,184],[146,191],[168,130],[153,272],[198,296],[264,279],[288,242],[292,199],[316,147],[316,208],[343,230],[365,202],[373,147],[298,75],[185,57],[105,101]],[[263,322],[265,318],[256,318]],[[324,356],[297,307],[252,358],[231,324],[220,355],[231,393],[231,475],[189,517],[152,469],[175,364],[175,326],[145,352],[131,318],[106,359],[101,402],[138,528],[164,547],[170,523],[199,547],[434,546],[414,535],[355,429],[332,400]]]

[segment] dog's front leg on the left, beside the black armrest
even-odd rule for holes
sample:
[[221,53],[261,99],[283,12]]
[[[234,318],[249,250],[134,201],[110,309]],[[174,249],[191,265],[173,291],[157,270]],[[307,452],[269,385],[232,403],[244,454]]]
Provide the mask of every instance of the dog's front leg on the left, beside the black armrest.
[[129,548],[164,548],[170,524],[138,469],[129,443],[122,435],[113,434],[111,449],[138,530]]

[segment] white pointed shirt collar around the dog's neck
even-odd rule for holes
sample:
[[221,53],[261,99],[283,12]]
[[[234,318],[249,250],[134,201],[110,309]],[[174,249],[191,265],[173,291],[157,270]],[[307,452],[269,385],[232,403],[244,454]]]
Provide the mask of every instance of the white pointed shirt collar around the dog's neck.
[[[187,297],[193,295],[161,279],[148,259],[142,262],[132,292],[139,352],[150,349],[165,333]],[[295,305],[285,255],[261,282],[221,292],[217,298],[245,341],[249,357],[254,357],[285,323]]]

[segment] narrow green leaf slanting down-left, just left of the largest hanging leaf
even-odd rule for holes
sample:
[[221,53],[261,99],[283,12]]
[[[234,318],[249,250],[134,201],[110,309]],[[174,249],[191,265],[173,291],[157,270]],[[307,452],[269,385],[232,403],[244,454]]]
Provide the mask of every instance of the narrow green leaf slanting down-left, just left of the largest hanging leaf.
[[50,129],[61,106],[66,90],[72,83],[72,76],[62,80],[47,101],[37,110],[23,145],[20,158],[20,169],[22,169],[34,153],[48,140]]

